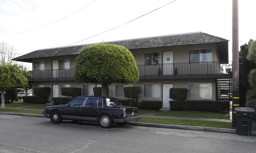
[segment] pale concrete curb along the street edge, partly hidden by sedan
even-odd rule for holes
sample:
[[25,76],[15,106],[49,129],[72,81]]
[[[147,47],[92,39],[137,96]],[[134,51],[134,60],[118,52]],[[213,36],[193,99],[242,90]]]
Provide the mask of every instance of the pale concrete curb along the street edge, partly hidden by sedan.
[[[0,114],[47,118],[44,115],[26,114],[26,113],[0,112]],[[235,129],[210,128],[210,127],[201,127],[201,126],[183,126],[183,125],[156,124],[156,123],[143,123],[143,122],[128,122],[126,125],[236,134]],[[251,135],[256,135],[256,131],[252,131]]]

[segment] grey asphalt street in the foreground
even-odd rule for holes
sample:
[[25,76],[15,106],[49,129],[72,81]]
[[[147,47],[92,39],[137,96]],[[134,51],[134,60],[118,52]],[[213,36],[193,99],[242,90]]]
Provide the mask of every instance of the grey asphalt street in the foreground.
[[254,153],[255,136],[0,114],[0,153]]

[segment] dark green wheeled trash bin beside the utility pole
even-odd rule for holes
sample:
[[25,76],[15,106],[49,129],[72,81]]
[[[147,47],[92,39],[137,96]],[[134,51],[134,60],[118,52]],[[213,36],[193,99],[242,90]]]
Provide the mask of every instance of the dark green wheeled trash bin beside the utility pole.
[[255,110],[249,107],[236,107],[236,132],[238,135],[250,136]]

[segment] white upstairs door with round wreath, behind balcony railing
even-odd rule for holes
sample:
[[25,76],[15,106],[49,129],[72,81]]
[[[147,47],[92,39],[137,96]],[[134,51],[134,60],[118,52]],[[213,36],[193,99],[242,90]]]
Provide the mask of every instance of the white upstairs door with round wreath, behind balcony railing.
[[173,51],[163,52],[163,75],[173,75]]

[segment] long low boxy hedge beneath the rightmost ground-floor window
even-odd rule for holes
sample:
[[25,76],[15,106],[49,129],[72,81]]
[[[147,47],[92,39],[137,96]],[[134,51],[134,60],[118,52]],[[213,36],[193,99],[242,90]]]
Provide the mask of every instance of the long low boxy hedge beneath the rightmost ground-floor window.
[[229,112],[229,101],[169,101],[171,110]]

